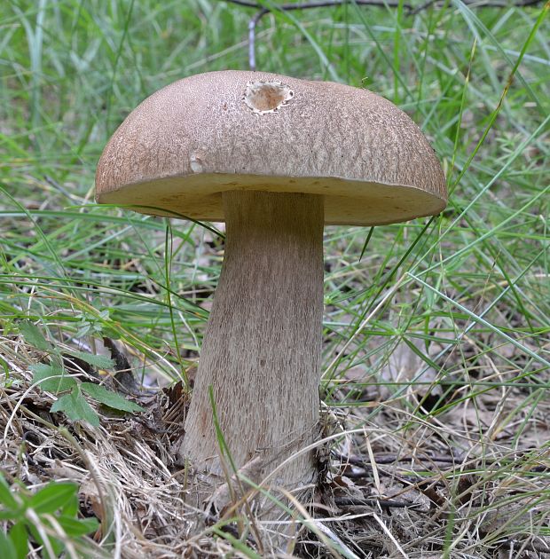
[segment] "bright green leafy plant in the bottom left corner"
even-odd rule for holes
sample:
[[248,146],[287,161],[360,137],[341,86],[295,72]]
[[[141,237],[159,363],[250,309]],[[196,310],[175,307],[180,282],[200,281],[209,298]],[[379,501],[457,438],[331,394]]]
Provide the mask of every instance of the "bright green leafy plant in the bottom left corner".
[[78,486],[50,482],[32,493],[23,484],[10,485],[0,474],[0,556],[24,559],[29,546],[42,547],[43,557],[82,556],[79,540],[98,529],[96,518],[78,518]]

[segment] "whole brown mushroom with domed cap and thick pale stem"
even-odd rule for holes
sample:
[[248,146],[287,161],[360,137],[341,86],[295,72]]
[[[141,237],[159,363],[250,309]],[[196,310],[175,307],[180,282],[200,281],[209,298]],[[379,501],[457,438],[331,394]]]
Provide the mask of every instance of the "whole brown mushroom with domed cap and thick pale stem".
[[236,468],[255,469],[256,481],[275,468],[271,481],[287,489],[313,482],[313,453],[297,451],[318,437],[323,226],[444,209],[444,173],[419,128],[341,83],[193,75],[122,122],[96,189],[100,203],[226,224],[182,458],[221,483],[216,411]]

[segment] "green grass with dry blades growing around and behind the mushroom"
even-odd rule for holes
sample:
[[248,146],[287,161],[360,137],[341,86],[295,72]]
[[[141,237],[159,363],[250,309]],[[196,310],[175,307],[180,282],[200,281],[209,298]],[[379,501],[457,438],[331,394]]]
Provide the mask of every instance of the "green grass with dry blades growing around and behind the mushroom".
[[[341,504],[322,524],[325,539],[311,532],[295,553],[533,557],[550,548],[546,12],[543,4],[496,9],[449,0],[411,17],[345,4],[274,12],[258,26],[259,69],[363,85],[404,108],[430,138],[451,193],[433,219],[326,228],[322,392],[327,432],[338,434],[331,439],[338,458],[329,461],[344,477],[332,484],[331,503]],[[74,430],[60,434],[62,419],[48,413],[53,398],[26,392],[30,367],[48,350],[21,324],[34,323],[65,353],[99,353],[102,338],[115,339],[148,384],[193,376],[223,240],[200,224],[95,206],[94,170],[107,138],[153,91],[186,75],[248,68],[252,13],[215,0],[0,5],[8,480],[41,487],[55,478],[43,474],[52,460],[67,461],[78,454],[74,445],[88,448],[84,439],[97,437],[85,427],[80,442]],[[12,461],[23,433],[46,429],[44,421],[57,453],[45,459],[47,437],[29,436],[30,458]],[[119,452],[109,444],[99,437],[98,445]],[[108,471],[108,461],[79,455]],[[154,483],[146,483],[150,511]],[[120,487],[109,487],[122,499]],[[123,524],[122,511],[135,502],[123,508],[128,496],[121,504],[107,493],[103,506]],[[342,504],[360,493],[415,508]],[[86,494],[101,519],[94,493]],[[120,523],[106,532],[103,552],[120,553],[121,534],[130,541]],[[208,533],[220,553],[256,553],[218,524]],[[148,553],[207,545],[182,538],[169,532]],[[136,539],[128,545],[139,556]]]

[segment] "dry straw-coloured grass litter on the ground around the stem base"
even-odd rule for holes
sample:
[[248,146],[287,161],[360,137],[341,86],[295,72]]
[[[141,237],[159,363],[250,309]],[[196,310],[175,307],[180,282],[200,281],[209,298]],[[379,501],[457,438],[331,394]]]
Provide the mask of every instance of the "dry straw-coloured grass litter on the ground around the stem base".
[[[295,537],[286,547],[279,542],[278,551],[271,546],[269,523],[248,517],[246,508],[238,509],[238,523],[203,514],[202,530],[193,528],[196,511],[185,503],[185,465],[175,458],[188,405],[181,384],[136,390],[138,383],[127,378],[126,385],[115,381],[120,371],[112,360],[83,359],[79,353],[76,357],[91,365],[87,370],[76,366],[78,374],[73,369],[67,381],[79,387],[78,399],[98,425],[71,420],[67,410],[52,407],[55,398],[59,403],[56,390],[35,382],[33,371],[44,366],[51,346],[34,328],[25,328],[30,343],[21,335],[1,341],[9,370],[0,388],[2,470],[9,482],[17,478],[34,490],[51,480],[78,484],[81,516],[101,523],[89,553],[130,558],[255,556],[259,550],[263,556],[303,557],[550,556],[550,403],[541,399],[534,408],[522,407],[521,388],[482,391],[460,404],[429,410],[421,404],[425,395],[415,390],[400,398],[381,387],[358,392],[358,370],[351,370],[349,382],[342,379],[333,395],[348,405],[323,407],[326,438],[318,445],[315,497],[303,503],[305,516],[296,524]],[[110,345],[118,368],[130,366],[113,350],[116,344]],[[415,358],[401,344],[383,374],[399,374],[399,363]],[[460,358],[455,361],[460,369]],[[112,367],[99,374],[94,364]],[[429,385],[434,370],[426,371]],[[448,398],[460,398],[460,390],[456,387]],[[103,404],[99,391],[111,395]],[[128,403],[123,410],[105,405],[118,398]],[[353,398],[362,405],[354,405]],[[247,529],[251,524],[255,531]]]

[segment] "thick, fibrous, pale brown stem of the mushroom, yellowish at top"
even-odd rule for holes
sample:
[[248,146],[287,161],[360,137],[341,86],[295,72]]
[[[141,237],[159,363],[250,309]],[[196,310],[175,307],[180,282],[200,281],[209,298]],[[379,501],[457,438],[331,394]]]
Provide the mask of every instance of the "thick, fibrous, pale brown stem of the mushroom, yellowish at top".
[[[250,191],[223,198],[224,264],[181,447],[210,486],[225,481],[224,469],[233,473],[222,463],[210,387],[235,466],[251,476],[247,465],[260,464],[255,481],[318,432],[323,198]],[[312,453],[300,453],[271,482],[293,488],[314,476]]]

